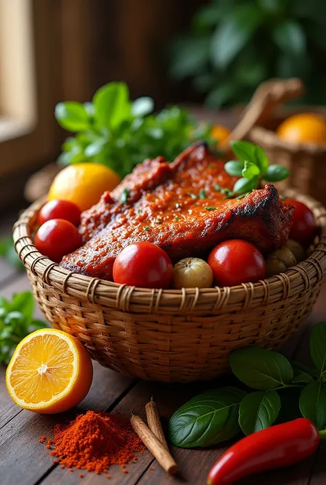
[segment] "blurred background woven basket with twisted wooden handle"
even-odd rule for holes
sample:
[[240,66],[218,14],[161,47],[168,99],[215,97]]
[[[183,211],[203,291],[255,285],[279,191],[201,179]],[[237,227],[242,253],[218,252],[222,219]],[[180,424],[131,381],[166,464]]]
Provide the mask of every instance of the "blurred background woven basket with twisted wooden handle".
[[[326,144],[285,142],[275,133],[279,124],[293,112],[307,111],[305,108],[293,112],[289,109],[283,111],[283,116],[277,116],[280,105],[298,98],[304,90],[303,83],[296,78],[265,81],[255,91],[229,139],[246,138],[265,150],[271,164],[289,169],[290,177],[276,184],[279,190],[290,186],[326,205]],[[310,107],[310,112],[326,115],[325,109],[320,107]]]

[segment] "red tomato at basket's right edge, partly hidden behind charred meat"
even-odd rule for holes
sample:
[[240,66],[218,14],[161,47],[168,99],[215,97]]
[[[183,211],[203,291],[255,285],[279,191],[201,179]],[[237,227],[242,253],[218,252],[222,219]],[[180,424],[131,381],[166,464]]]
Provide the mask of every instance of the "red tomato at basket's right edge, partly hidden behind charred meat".
[[316,222],[314,214],[302,202],[294,199],[286,199],[285,204],[294,206],[292,226],[290,230],[290,239],[294,239],[307,248],[314,242],[316,235]]

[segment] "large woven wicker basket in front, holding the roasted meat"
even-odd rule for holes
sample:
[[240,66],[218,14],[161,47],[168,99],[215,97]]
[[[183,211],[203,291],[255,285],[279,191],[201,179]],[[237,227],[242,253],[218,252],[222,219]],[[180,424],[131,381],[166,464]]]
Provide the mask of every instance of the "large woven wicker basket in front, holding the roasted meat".
[[326,272],[326,210],[312,255],[276,277],[225,288],[148,290],[68,272],[42,256],[31,235],[43,201],[14,224],[14,246],[45,318],[76,336],[102,365],[164,382],[210,379],[228,371],[232,350],[279,347],[312,310]]

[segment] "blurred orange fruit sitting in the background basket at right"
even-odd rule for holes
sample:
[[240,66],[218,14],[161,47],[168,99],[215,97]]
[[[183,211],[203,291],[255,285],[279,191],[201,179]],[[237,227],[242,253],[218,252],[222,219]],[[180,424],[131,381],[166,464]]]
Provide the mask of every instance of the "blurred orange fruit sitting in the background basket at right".
[[279,125],[276,134],[285,142],[326,144],[326,121],[318,114],[295,114]]

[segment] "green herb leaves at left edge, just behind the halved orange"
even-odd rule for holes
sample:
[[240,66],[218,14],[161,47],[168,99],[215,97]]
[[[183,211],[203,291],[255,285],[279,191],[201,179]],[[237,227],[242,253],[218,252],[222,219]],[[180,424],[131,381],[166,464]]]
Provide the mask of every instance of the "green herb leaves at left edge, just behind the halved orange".
[[28,334],[46,327],[45,322],[33,319],[32,292],[16,293],[12,301],[0,297],[0,363],[8,364],[17,344]]

